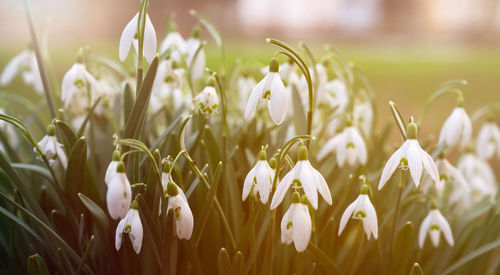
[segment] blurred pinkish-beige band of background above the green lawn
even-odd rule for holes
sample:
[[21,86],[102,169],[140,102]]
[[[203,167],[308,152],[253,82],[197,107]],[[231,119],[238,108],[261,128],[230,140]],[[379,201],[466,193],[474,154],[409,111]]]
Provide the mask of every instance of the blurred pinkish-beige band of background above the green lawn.
[[[58,43],[119,38],[136,13],[137,0],[29,0],[37,28]],[[3,44],[26,43],[21,0],[0,0]],[[500,41],[500,0],[151,0],[159,35],[174,12],[189,35],[196,9],[225,38],[279,36],[289,39],[394,43],[488,43]]]

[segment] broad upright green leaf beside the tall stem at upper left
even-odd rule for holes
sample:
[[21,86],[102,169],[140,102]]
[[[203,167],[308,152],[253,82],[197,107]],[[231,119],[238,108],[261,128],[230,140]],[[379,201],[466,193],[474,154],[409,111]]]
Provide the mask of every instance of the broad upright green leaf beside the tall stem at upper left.
[[125,126],[125,132],[123,136],[125,138],[135,138],[138,136],[138,131],[142,129],[142,124],[146,116],[146,111],[148,109],[149,99],[151,97],[151,88],[153,87],[153,82],[156,76],[156,69],[158,68],[158,55],[151,62],[148,72],[144,77],[139,93],[135,100],[134,108],[130,112],[130,116],[127,120],[127,125]]

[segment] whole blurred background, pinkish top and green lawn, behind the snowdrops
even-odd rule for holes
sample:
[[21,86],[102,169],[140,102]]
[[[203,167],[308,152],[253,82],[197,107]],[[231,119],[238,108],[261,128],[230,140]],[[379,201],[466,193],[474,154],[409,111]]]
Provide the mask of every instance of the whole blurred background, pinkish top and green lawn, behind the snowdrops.
[[[31,0],[38,32],[46,32],[53,74],[61,79],[78,48],[117,60],[125,24],[137,12],[132,0]],[[187,38],[196,23],[190,9],[205,14],[226,43],[227,64],[265,65],[272,36],[291,44],[305,41],[317,56],[324,44],[338,48],[362,68],[377,93],[379,116],[390,118],[394,100],[404,116],[418,114],[442,82],[466,79],[466,108],[500,99],[500,0],[151,0],[150,16],[159,43],[168,15],[175,13]],[[218,53],[209,42],[209,66]],[[22,1],[0,0],[0,68],[29,42]],[[210,54],[212,53],[212,54]],[[437,128],[455,99],[439,100],[424,123]]]

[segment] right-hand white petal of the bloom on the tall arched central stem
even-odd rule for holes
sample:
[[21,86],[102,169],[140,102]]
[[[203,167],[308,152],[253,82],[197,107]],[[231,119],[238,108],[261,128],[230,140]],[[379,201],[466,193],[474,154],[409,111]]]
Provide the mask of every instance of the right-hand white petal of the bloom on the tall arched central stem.
[[276,125],[280,125],[286,117],[288,101],[286,100],[286,89],[279,73],[270,73],[271,81],[271,100],[268,103],[269,114]]

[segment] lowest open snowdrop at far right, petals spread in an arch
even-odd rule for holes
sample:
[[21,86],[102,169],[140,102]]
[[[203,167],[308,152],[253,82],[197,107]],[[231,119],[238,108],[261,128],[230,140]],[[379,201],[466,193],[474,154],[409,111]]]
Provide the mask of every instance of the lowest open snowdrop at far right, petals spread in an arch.
[[443,217],[441,212],[439,212],[436,205],[433,205],[431,211],[420,225],[418,246],[420,248],[424,247],[425,238],[427,237],[427,233],[429,233],[432,244],[434,247],[437,247],[441,232],[443,232],[444,238],[448,244],[453,246],[453,235],[451,233],[450,224],[448,224],[448,221]]

